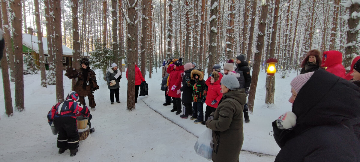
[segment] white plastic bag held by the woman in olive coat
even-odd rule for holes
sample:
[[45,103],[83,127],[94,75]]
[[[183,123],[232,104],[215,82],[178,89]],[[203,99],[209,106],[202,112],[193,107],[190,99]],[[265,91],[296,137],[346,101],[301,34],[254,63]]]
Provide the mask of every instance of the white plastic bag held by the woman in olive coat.
[[195,152],[210,161],[212,157],[212,147],[212,130],[207,128],[196,141],[194,146]]

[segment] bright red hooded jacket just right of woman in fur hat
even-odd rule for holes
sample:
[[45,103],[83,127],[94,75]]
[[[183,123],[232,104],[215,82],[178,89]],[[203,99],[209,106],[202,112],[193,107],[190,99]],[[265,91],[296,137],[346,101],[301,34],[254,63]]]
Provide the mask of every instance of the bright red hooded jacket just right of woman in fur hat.
[[[326,61],[325,55],[327,55]],[[323,64],[321,67],[327,67],[326,71],[338,77],[345,77],[345,68],[342,65],[342,54],[339,51],[325,51],[323,53]]]

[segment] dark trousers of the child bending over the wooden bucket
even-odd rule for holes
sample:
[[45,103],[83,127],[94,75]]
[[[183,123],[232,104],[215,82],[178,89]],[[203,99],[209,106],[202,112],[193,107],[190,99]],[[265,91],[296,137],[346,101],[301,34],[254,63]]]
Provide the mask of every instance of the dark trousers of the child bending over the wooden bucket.
[[69,148],[70,150],[79,147],[79,133],[77,132],[76,118],[57,117],[54,118],[54,126],[58,130],[58,148]]

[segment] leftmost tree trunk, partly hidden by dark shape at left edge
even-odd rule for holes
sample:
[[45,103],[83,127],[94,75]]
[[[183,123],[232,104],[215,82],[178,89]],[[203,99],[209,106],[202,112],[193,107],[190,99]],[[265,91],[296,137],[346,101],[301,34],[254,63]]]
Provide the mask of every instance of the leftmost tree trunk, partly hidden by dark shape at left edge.
[[[0,12],[1,17],[1,12]],[[3,22],[0,21],[0,27],[3,27]],[[3,32],[1,30],[1,32]],[[2,33],[1,33],[2,34]],[[2,38],[0,46],[4,46],[5,39]],[[6,48],[5,48],[6,49]],[[9,53],[9,50],[3,49],[4,55],[1,58],[1,74],[3,75],[3,87],[4,87],[4,103],[5,103],[5,112],[6,115],[13,116],[13,101],[11,98],[11,89],[10,89],[10,79],[9,79],[9,68],[8,68],[8,61],[6,60],[6,53]]]

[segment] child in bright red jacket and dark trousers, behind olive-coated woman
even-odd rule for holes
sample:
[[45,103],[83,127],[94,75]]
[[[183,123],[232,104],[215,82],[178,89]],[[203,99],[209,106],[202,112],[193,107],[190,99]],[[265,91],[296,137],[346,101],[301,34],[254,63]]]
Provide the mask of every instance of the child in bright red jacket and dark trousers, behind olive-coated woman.
[[207,118],[212,112],[215,112],[217,105],[219,104],[220,99],[222,98],[220,81],[222,75],[217,71],[213,71],[211,74],[211,79],[206,80],[205,84],[208,86],[207,94],[206,94],[206,110],[205,110],[205,119],[201,122],[205,125]]

